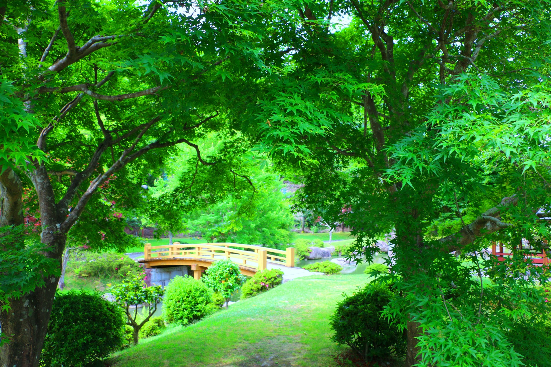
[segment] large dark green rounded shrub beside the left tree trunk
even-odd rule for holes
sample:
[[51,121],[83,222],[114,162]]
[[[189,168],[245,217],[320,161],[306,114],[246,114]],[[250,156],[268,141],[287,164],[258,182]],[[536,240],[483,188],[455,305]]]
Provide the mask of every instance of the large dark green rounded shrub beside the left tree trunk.
[[120,308],[99,292],[57,293],[41,365],[81,367],[105,358],[122,346],[124,325]]

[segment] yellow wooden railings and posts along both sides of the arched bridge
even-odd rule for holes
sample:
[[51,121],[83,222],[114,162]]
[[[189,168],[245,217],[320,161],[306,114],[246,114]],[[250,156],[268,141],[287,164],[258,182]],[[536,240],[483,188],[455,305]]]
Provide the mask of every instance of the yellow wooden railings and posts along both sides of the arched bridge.
[[[236,247],[242,249],[236,249]],[[240,243],[202,243],[187,244],[175,242],[172,245],[152,246],[145,244],[144,260],[150,259],[231,259],[239,265],[256,270],[266,269],[267,263],[295,266],[295,249],[288,247],[285,251],[256,245]]]

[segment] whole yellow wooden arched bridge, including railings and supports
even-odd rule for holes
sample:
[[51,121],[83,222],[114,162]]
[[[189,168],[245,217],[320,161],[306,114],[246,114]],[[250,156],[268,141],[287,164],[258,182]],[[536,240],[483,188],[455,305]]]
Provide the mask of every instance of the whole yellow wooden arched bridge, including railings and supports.
[[147,269],[191,265],[193,277],[201,278],[204,270],[217,260],[234,261],[243,275],[253,276],[257,271],[278,267],[295,266],[295,249],[285,251],[262,246],[239,243],[202,243],[188,244],[175,242],[172,245],[152,246],[146,243],[144,259],[139,260]]

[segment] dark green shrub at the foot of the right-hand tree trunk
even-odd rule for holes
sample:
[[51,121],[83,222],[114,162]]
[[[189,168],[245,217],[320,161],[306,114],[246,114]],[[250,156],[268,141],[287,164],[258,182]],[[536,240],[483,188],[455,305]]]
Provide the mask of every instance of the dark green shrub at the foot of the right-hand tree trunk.
[[392,354],[406,354],[406,331],[381,317],[381,311],[395,294],[380,284],[368,284],[337,303],[329,325],[332,340],[347,344],[366,361],[387,361]]

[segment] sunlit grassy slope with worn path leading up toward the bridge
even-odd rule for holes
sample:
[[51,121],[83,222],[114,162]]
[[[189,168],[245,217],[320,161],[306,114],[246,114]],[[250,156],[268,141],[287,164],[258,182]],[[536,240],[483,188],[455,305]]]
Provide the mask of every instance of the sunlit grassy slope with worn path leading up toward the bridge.
[[329,316],[342,292],[352,293],[368,279],[298,278],[191,326],[144,339],[118,353],[115,367],[253,367],[271,355],[277,366],[332,366],[339,347],[329,340]]

